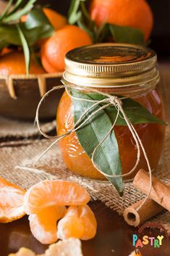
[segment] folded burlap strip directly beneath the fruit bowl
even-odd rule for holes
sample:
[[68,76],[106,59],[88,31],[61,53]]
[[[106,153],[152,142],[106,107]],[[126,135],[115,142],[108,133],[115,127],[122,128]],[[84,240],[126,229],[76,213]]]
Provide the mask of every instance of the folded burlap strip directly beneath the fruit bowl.
[[[56,128],[56,121],[41,125],[45,133],[49,133]],[[33,122],[24,122],[0,117],[0,138],[30,138],[40,136],[38,128]]]

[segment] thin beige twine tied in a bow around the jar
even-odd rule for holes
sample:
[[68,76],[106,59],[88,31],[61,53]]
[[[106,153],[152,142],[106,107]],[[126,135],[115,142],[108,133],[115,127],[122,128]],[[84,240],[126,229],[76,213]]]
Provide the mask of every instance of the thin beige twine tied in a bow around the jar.
[[[41,129],[41,125],[39,122],[39,110],[41,107],[41,104],[43,102],[44,99],[46,99],[46,96],[48,96],[49,94],[51,94],[53,91],[59,90],[60,88],[65,88],[65,90],[67,91],[67,94],[72,98],[72,99],[76,99],[76,100],[81,100],[81,101],[85,101],[85,102],[93,102],[94,104],[92,104],[88,110],[85,110],[85,112],[82,113],[82,115],[80,116],[80,118],[77,120],[77,122],[75,123],[74,127],[71,128],[69,131],[67,131],[67,133],[62,134],[61,136],[48,136],[48,134],[44,133]],[[148,194],[145,197],[145,199],[143,200],[143,203],[137,207],[137,210],[140,210],[141,207],[143,207],[143,205],[145,204],[145,202],[148,200],[148,198],[150,197],[150,191],[152,189],[152,172],[151,172],[151,168],[150,168],[150,162],[148,160],[148,156],[145,152],[145,148],[143,146],[142,141],[140,140],[140,137],[137,134],[137,131],[135,130],[135,127],[132,125],[132,123],[130,122],[130,120],[128,119],[127,115],[125,114],[123,107],[122,107],[122,99],[127,99],[127,97],[122,97],[119,98],[117,96],[113,96],[111,94],[107,94],[107,93],[103,93],[103,91],[99,91],[97,89],[94,88],[88,88],[88,91],[90,92],[95,92],[97,94],[101,94],[102,96],[106,96],[105,99],[101,99],[101,100],[93,100],[93,99],[83,99],[77,96],[72,96],[72,94],[70,94],[69,92],[69,88],[74,88],[76,90],[81,90],[81,91],[87,91],[87,88],[79,88],[77,86],[67,86],[67,85],[63,85],[63,86],[54,86],[54,88],[52,88],[50,91],[47,91],[46,94],[41,98],[41,101],[38,104],[37,110],[36,110],[36,115],[35,115],[35,123],[37,123],[38,125],[38,130],[40,131],[40,133],[46,137],[47,139],[56,139],[50,146],[48,146],[48,148],[41,153],[41,155],[38,157],[37,160],[35,160],[34,165],[37,164],[37,162],[41,159],[41,157],[43,157],[44,154],[46,154],[46,152],[48,152],[52,146],[54,146],[54,144],[56,144],[58,141],[60,141],[61,139],[64,139],[64,137],[69,136],[70,134],[72,134],[73,132],[79,130],[80,128],[82,128],[83,125],[85,125],[85,123],[88,122],[88,120],[90,120],[91,117],[93,117],[94,115],[96,115],[98,112],[100,112],[101,110],[104,110],[106,107],[109,106],[114,106],[117,110],[117,114],[116,114],[116,118],[114,120],[114,124],[111,126],[109,132],[106,134],[106,136],[104,136],[104,138],[100,141],[100,143],[95,146],[95,149],[93,150],[93,154],[91,157],[91,160],[93,162],[93,166],[104,176],[109,177],[109,178],[118,178],[118,177],[126,177],[129,176],[129,174],[133,173],[134,170],[137,168],[137,165],[140,162],[140,148],[143,151],[146,163],[148,165],[148,171],[149,171],[149,176],[150,176],[150,185],[149,185],[149,189],[148,189]],[[103,104],[104,103],[104,104]],[[95,106],[103,104],[103,106],[100,106],[97,110],[93,111],[90,115],[87,114],[90,110],[92,110]],[[127,123],[127,126],[129,128],[129,131],[132,134],[133,139],[135,140],[135,144],[137,146],[137,160],[135,162],[134,167],[132,168],[132,170],[129,170],[128,173],[124,173],[124,174],[120,174],[120,175],[109,175],[106,173],[103,173],[100,168],[98,168],[98,165],[95,164],[94,161],[94,156],[95,156],[95,152],[98,149],[99,146],[101,146],[101,144],[103,143],[103,141],[106,140],[106,138],[111,134],[111,132],[114,130],[114,126],[116,125],[116,120],[118,119],[119,115],[122,114],[122,117],[124,118],[125,122]],[[84,120],[85,118],[85,120]],[[84,120],[84,121],[83,121]]]

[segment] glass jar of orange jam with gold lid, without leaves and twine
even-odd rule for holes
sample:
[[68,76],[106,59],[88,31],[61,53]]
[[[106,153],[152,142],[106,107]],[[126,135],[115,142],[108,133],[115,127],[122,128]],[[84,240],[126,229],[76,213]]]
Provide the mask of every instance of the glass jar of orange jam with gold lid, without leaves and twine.
[[[69,51],[65,58],[63,80],[66,85],[87,91],[95,88],[115,96],[126,96],[142,104],[152,115],[164,119],[163,102],[156,89],[159,82],[156,62],[155,51],[144,46],[95,44]],[[67,92],[61,97],[56,119],[58,135],[67,133],[74,127],[72,99]],[[148,155],[150,167],[154,170],[161,156],[165,126],[140,123],[134,127]],[[127,126],[115,125],[114,132],[119,146],[122,173],[128,173],[137,159],[135,141]],[[73,173],[88,178],[106,179],[94,168],[75,132],[61,139],[59,144],[64,162]],[[148,170],[143,153],[135,172],[126,179],[133,178],[140,168]]]

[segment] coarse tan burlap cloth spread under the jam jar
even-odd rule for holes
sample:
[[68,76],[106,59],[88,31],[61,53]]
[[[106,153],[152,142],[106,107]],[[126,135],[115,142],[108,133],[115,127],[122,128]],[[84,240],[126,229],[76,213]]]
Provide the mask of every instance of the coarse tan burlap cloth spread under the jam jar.
[[[1,163],[0,176],[9,181],[28,189],[38,181],[48,179],[67,179],[77,181],[90,192],[92,199],[101,200],[107,207],[122,212],[125,207],[132,205],[144,197],[132,183],[124,184],[124,195],[119,197],[116,190],[109,182],[94,181],[80,176],[73,175],[67,170],[61,158],[59,146],[55,145],[43,156],[34,168],[34,162],[50,144],[52,140],[43,139],[41,141],[14,141],[0,144]],[[163,149],[161,161],[154,173],[164,182],[170,180],[170,129],[166,131],[166,141]],[[157,217],[157,222],[161,222],[170,232],[170,212],[163,212]]]

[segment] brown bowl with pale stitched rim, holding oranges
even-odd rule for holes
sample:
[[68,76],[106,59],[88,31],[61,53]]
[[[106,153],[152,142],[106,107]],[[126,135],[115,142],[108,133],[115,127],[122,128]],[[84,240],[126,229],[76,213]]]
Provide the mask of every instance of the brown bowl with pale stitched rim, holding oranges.
[[[61,85],[62,73],[42,75],[0,75],[0,115],[19,120],[33,120],[41,96]],[[64,90],[47,96],[40,110],[40,120],[56,116],[59,99]]]

